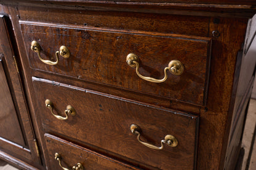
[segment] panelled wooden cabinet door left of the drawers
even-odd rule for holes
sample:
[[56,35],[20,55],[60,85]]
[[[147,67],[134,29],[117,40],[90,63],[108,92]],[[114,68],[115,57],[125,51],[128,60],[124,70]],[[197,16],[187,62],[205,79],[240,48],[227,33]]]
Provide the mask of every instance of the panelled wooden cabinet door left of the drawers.
[[8,23],[0,15],[0,158],[27,168],[38,165],[40,159]]

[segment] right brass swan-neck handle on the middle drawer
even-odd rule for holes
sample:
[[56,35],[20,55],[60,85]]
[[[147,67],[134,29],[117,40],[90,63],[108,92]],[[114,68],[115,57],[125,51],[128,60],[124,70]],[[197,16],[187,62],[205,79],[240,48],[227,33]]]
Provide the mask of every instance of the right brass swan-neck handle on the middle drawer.
[[161,147],[157,147],[155,145],[148,144],[148,143],[143,142],[142,140],[140,140],[140,133],[141,133],[142,130],[140,129],[140,127],[138,125],[135,125],[135,124],[130,125],[130,131],[133,134],[137,135],[138,142],[145,145],[146,147],[150,147],[151,149],[161,150],[161,149],[164,148],[163,144],[167,144],[170,147],[176,147],[178,145],[177,139],[174,136],[170,135],[170,134],[167,134],[166,137],[164,137],[164,139],[161,141]]

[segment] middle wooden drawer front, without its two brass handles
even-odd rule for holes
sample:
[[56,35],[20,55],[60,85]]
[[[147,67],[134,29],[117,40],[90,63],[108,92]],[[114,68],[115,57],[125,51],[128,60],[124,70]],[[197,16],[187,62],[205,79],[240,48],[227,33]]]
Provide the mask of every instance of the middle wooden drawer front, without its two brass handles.
[[[99,147],[142,167],[194,168],[198,117],[36,77],[33,85],[39,106],[36,112],[44,131]],[[76,115],[68,114],[67,120],[58,120],[46,107],[46,99],[52,101],[55,115],[65,117],[68,105],[74,107]],[[170,134],[178,145],[163,144],[162,150],[150,149],[140,144],[137,135],[130,131],[132,124],[140,127],[141,141],[159,147]]]

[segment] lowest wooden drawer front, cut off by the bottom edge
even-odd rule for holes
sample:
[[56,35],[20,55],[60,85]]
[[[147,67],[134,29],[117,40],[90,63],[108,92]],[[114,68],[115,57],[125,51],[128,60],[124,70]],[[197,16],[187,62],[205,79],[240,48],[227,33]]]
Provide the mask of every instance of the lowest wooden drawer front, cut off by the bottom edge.
[[[110,170],[110,169],[137,169],[128,164],[101,155],[92,150],[80,147],[79,145],[65,141],[50,134],[44,135],[46,139],[47,150],[49,153],[48,169],[71,169],[73,166],[80,167],[78,170]],[[55,154],[58,153],[58,154]],[[60,159],[60,164],[57,158]],[[82,166],[79,166],[81,164]]]

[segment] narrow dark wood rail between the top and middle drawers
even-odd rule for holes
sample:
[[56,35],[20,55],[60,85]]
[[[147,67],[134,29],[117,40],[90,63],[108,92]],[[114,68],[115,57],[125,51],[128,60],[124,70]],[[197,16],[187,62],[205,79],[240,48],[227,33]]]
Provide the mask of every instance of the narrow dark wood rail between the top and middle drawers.
[[[28,66],[29,67],[29,66]],[[181,112],[189,112],[191,114],[199,115],[201,109],[205,109],[202,106],[195,106],[194,104],[180,102],[177,100],[171,100],[162,98],[161,96],[156,97],[152,95],[142,95],[141,93],[134,93],[133,91],[129,90],[120,90],[118,88],[110,87],[109,85],[103,85],[93,82],[84,83],[84,81],[79,79],[73,79],[71,77],[66,77],[63,79],[62,76],[57,74],[49,74],[48,72],[41,72],[41,71],[33,71],[34,77],[43,77],[44,79],[50,79],[57,82],[62,82],[70,85],[74,85],[76,87],[82,87],[94,91],[99,91],[106,94],[111,94],[114,96],[129,98],[131,100],[145,102],[148,104],[152,104],[154,106],[169,108],[172,110],[179,110]]]

